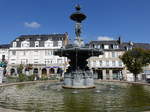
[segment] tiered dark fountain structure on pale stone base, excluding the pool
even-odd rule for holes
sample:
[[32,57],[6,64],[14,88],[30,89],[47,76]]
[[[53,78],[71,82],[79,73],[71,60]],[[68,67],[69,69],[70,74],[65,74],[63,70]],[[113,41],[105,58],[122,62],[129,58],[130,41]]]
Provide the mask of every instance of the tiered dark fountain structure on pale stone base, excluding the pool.
[[71,14],[70,19],[75,21],[76,39],[74,44],[69,44],[55,52],[55,55],[67,57],[70,66],[64,74],[63,88],[94,88],[93,73],[87,67],[87,59],[91,56],[99,56],[102,51],[89,48],[81,39],[81,23],[86,15],[81,13],[80,5],[75,7],[76,12]]

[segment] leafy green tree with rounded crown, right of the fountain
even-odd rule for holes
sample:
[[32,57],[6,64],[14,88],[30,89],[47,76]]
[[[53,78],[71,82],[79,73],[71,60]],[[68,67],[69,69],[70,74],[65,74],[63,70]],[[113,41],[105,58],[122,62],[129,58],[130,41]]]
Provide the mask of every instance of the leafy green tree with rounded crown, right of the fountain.
[[127,69],[133,73],[134,81],[136,82],[137,75],[143,72],[143,67],[150,64],[150,51],[142,48],[133,48],[125,52],[120,59]]

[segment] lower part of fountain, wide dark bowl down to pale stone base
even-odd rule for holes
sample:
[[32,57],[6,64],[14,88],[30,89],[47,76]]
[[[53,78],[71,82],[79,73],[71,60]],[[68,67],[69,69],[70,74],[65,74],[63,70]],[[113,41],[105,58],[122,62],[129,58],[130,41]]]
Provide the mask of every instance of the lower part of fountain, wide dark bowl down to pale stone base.
[[64,74],[63,88],[94,88],[94,76],[89,70],[87,59],[91,56],[99,56],[102,51],[94,48],[71,46],[61,48],[56,55],[67,57],[70,66]]

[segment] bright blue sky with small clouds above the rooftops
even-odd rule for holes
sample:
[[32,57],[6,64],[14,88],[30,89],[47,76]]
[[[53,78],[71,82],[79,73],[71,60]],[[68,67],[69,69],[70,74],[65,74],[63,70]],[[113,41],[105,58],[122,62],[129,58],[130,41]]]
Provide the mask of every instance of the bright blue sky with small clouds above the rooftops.
[[75,39],[69,16],[80,4],[87,15],[81,37],[150,43],[150,0],[0,0],[0,44],[20,35],[68,32]]

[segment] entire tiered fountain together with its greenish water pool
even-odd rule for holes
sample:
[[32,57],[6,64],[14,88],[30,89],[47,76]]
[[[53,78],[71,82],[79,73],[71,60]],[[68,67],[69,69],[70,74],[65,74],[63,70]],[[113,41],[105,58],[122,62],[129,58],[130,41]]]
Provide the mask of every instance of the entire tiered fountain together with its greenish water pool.
[[[36,81],[0,84],[0,110],[4,112],[149,112],[150,85],[129,82],[96,81],[87,67],[86,59],[102,52],[83,45],[80,39],[81,22],[86,16],[79,12],[71,15],[78,22],[76,42],[56,52],[70,59],[65,73],[65,88],[61,82]],[[81,18],[81,19],[79,19]],[[83,19],[84,18],[84,19]],[[79,19],[79,20],[77,20]],[[79,29],[78,29],[79,28]]]

